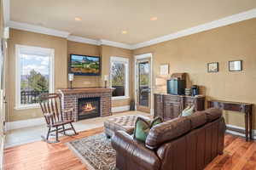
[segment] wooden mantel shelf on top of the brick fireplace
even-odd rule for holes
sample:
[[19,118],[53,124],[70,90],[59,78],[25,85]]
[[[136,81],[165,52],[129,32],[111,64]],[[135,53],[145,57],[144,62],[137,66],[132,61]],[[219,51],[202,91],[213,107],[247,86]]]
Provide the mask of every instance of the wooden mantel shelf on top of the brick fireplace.
[[112,93],[114,88],[61,88],[61,94]]

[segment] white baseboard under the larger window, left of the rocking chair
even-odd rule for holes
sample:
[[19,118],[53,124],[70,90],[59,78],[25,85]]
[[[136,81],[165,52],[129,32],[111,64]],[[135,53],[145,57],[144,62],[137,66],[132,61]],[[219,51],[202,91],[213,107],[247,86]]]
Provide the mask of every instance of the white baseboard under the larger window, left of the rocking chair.
[[14,130],[18,128],[34,127],[34,126],[44,125],[44,124],[45,124],[44,117],[27,119],[22,121],[15,121],[15,122],[6,122],[6,130],[9,131],[9,130]]

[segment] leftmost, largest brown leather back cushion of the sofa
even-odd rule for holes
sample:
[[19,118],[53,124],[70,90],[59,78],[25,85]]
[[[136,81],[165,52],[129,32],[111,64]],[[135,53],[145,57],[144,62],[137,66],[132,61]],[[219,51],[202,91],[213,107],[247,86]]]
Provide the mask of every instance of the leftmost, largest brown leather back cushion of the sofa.
[[150,129],[145,142],[146,147],[149,149],[155,149],[159,147],[160,144],[176,139],[184,133],[189,132],[190,129],[190,119],[186,116],[162,122]]

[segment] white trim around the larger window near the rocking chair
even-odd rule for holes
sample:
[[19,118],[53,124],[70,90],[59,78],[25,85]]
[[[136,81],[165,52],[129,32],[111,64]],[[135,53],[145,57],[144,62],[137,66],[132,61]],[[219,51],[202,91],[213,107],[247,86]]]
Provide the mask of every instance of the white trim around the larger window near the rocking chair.
[[23,109],[35,109],[39,108],[39,104],[29,104],[21,105],[20,104],[20,52],[21,50],[29,50],[31,54],[47,54],[49,55],[49,93],[54,93],[55,91],[55,69],[54,69],[54,57],[55,49],[54,48],[38,48],[33,46],[26,45],[15,45],[15,110]]

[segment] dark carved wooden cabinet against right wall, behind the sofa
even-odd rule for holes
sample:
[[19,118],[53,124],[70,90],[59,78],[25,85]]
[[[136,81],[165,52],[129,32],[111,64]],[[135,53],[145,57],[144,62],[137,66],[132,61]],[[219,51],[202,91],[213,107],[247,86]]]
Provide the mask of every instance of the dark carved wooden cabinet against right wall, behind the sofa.
[[165,121],[179,116],[188,105],[195,105],[195,111],[203,111],[205,110],[205,97],[154,94],[154,116],[160,116]]

